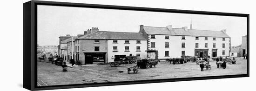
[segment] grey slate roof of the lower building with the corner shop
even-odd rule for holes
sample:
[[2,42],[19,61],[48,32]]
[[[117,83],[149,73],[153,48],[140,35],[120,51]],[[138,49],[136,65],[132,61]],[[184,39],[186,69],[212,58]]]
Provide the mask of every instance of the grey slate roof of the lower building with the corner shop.
[[141,33],[137,33],[137,32],[108,32],[108,31],[98,31],[98,32],[89,33],[77,39],[147,40]]

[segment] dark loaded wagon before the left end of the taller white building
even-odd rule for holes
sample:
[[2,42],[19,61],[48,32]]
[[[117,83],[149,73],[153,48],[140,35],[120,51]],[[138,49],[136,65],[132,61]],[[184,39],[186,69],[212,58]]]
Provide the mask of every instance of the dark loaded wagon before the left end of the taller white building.
[[152,68],[152,66],[155,67],[155,65],[157,65],[158,62],[160,62],[160,60],[158,59],[142,59],[138,60],[137,66],[140,68]]

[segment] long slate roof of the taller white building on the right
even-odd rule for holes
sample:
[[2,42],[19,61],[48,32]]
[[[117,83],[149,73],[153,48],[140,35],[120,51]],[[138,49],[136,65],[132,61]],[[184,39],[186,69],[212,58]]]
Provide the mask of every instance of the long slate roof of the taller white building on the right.
[[145,32],[148,34],[230,38],[228,34],[222,31],[196,30],[196,29],[188,29],[188,31],[186,31],[182,28],[172,28],[172,30],[170,31],[167,27],[154,27],[154,26],[143,26],[143,28]]

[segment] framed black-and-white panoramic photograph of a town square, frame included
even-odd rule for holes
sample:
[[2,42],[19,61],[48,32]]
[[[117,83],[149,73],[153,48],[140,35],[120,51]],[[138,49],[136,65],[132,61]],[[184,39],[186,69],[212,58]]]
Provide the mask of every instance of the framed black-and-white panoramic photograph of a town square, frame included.
[[23,87],[249,77],[249,14],[32,0]]

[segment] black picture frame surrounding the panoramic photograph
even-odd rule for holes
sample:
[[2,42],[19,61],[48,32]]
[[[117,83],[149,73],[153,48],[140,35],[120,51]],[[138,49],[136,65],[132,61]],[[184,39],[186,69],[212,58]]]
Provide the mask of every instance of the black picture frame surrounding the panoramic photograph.
[[[125,82],[109,82],[96,84],[69,84],[69,85],[54,85],[54,86],[40,86],[36,85],[37,81],[37,5],[50,6],[66,6],[66,7],[91,7],[91,8],[105,8],[105,9],[120,9],[120,10],[134,10],[134,11],[153,11],[166,13],[190,13],[190,14],[205,14],[205,15],[222,15],[222,16],[238,16],[247,18],[247,74],[242,75],[225,75],[225,76],[210,76],[210,77],[193,77],[193,78],[171,78],[171,79],[156,79],[146,81],[125,81]],[[50,90],[50,89],[66,89],[66,88],[81,88],[81,87],[95,87],[95,86],[109,86],[109,85],[123,85],[123,84],[145,84],[145,83],[161,83],[161,82],[175,82],[175,81],[189,81],[189,80],[203,80],[203,79],[217,79],[217,78],[238,78],[249,77],[249,14],[241,13],[219,13],[219,12],[205,12],[205,11],[190,11],[190,10],[175,10],[162,8],[148,8],[148,7],[124,7],[124,6],[110,6],[110,5],[96,5],[96,4],[82,4],[82,3],[68,3],[68,2],[53,2],[53,1],[37,1],[32,0],[23,4],[23,87],[28,90]]]

